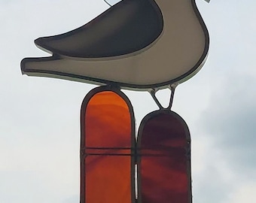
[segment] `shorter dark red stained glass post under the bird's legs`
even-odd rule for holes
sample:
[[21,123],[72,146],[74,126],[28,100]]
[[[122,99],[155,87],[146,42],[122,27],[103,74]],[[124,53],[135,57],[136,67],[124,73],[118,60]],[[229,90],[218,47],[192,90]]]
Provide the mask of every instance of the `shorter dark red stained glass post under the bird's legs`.
[[139,202],[190,203],[190,135],[172,111],[142,120],[138,138]]

